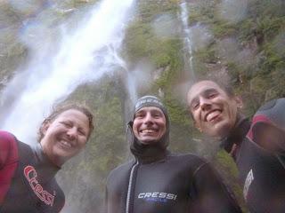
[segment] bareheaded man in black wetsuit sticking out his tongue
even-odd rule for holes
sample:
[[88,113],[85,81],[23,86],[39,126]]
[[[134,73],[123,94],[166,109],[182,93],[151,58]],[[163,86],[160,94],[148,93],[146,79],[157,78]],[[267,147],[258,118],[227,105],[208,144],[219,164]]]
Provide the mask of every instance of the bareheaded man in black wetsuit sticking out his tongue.
[[249,211],[285,212],[285,99],[261,106],[251,122],[232,87],[216,79],[194,83],[187,99],[195,126],[236,162]]

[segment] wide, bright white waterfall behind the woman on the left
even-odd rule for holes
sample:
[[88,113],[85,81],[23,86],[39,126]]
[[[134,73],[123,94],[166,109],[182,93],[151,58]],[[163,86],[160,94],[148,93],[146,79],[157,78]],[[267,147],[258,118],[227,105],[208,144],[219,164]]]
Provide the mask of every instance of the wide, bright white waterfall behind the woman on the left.
[[35,141],[37,127],[54,103],[66,99],[78,85],[98,81],[116,67],[125,67],[118,50],[132,4],[133,0],[96,4],[78,28],[69,33],[61,30],[61,39],[56,39],[58,47],[54,40],[45,39],[48,30],[36,30],[36,35],[24,37],[32,59],[1,94],[0,111],[4,115],[0,128],[24,142]]

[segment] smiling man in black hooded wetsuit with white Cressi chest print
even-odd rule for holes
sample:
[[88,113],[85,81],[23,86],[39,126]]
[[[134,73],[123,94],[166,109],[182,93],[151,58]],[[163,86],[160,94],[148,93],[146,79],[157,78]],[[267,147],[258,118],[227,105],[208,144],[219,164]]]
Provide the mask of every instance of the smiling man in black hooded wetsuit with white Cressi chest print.
[[158,98],[138,99],[127,127],[134,160],[110,172],[105,213],[241,212],[208,162],[167,150],[170,123]]

